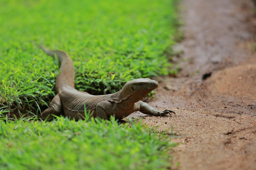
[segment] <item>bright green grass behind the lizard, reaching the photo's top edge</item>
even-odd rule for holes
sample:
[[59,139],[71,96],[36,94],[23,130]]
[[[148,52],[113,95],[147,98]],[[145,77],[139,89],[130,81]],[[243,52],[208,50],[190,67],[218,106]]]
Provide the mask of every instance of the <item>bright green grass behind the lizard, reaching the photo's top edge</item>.
[[116,92],[134,78],[166,75],[177,39],[177,0],[1,0],[0,106],[37,114],[55,95],[65,50],[79,90]]

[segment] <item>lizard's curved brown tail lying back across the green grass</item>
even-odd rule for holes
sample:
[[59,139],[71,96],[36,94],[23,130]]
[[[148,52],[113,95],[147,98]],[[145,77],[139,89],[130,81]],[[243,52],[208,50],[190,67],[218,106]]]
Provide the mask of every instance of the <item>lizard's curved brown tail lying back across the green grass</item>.
[[65,51],[60,50],[48,50],[43,45],[39,45],[43,51],[53,58],[58,57],[60,66],[60,73],[56,77],[56,92],[63,89],[67,89],[69,87],[75,88],[75,69],[72,60],[69,55]]

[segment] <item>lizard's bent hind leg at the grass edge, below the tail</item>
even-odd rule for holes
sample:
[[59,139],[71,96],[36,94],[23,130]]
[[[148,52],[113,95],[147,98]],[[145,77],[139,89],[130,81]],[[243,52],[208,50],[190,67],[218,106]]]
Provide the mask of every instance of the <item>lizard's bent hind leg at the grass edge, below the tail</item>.
[[52,101],[49,104],[49,108],[44,110],[42,114],[38,116],[38,118],[41,118],[45,120],[47,117],[47,120],[52,120],[54,117],[52,115],[60,116],[62,113],[62,104],[61,99],[59,98],[59,94],[57,94]]

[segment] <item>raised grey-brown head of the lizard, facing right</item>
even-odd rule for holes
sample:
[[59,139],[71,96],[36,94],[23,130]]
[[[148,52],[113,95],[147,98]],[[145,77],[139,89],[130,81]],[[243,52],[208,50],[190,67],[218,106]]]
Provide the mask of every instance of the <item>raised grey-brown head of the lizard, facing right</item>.
[[125,83],[122,89],[122,99],[129,99],[129,101],[140,101],[149,92],[157,88],[158,83],[149,78],[138,78]]

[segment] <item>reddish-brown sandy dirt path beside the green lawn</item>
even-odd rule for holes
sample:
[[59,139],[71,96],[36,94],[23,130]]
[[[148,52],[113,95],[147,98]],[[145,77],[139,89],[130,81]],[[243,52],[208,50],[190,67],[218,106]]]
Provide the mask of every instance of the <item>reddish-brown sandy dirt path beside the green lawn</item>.
[[[177,169],[256,169],[256,17],[251,0],[183,0],[184,40],[177,78],[165,77],[149,104],[177,117],[143,116],[173,126]],[[135,113],[130,117],[139,117]],[[177,166],[177,163],[179,166]]]

